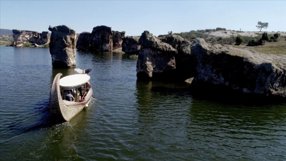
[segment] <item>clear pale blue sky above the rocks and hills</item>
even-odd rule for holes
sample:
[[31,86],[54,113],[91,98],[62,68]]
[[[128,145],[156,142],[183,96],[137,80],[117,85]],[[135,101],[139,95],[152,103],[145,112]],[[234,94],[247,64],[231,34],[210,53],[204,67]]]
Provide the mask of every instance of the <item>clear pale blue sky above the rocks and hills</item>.
[[140,36],[155,36],[225,28],[259,31],[257,22],[268,22],[261,31],[286,31],[286,1],[3,1],[0,28],[49,31],[66,25],[76,33],[97,26]]

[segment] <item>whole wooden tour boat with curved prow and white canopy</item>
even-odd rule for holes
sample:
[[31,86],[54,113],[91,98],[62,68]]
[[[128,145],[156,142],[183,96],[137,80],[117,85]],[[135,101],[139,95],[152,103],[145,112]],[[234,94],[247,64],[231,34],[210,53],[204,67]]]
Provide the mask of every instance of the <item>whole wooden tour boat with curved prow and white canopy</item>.
[[[56,75],[50,94],[51,118],[56,123],[73,119],[84,107],[88,106],[92,97],[90,76],[87,74],[75,74],[63,78],[61,76],[61,73]],[[67,91],[73,94],[75,98],[73,101],[65,100]]]

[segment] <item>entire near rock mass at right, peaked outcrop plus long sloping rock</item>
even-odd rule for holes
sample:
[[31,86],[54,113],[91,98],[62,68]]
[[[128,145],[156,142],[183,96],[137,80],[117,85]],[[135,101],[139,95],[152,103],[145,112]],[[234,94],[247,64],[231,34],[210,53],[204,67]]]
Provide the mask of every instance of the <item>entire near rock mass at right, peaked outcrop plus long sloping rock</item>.
[[[164,42],[163,42],[164,41]],[[192,85],[220,86],[243,94],[286,98],[286,56],[142,33],[138,80],[193,78]]]

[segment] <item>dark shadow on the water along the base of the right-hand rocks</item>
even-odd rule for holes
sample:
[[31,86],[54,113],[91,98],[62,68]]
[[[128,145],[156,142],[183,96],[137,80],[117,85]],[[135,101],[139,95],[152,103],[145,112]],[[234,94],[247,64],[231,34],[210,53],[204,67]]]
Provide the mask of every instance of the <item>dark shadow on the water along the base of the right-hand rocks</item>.
[[[145,86],[145,89],[142,90],[148,90],[150,95],[152,95],[152,93],[163,96],[176,95],[224,105],[243,105],[252,107],[283,105],[286,102],[284,98],[242,94],[222,86],[192,86],[188,83],[178,82],[137,81],[138,90],[141,90],[140,86]],[[145,97],[147,96],[148,95]]]

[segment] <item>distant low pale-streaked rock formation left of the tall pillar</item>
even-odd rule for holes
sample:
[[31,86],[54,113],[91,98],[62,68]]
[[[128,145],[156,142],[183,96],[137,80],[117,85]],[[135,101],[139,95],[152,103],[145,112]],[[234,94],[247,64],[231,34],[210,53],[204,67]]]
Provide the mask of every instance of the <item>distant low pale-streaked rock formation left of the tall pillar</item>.
[[50,42],[49,32],[43,31],[38,33],[36,31],[22,31],[12,30],[13,32],[13,47],[22,47],[26,42],[33,43],[35,45],[46,44]]

